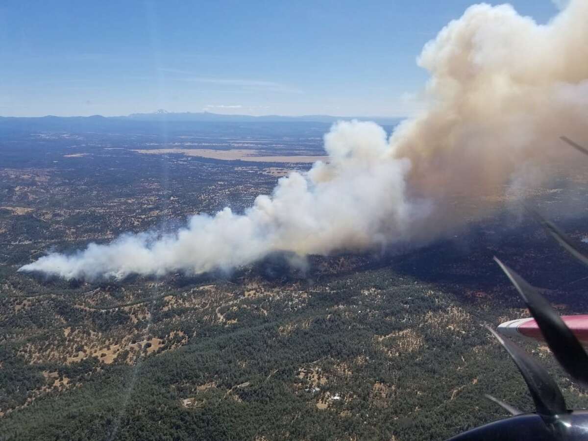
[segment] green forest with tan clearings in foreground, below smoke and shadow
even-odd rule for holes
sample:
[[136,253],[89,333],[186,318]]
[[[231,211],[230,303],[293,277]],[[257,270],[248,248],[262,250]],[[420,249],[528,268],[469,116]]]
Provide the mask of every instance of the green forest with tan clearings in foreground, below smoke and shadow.
[[[104,309],[75,308],[79,287],[39,293],[39,309],[31,301],[2,323],[5,332],[43,329],[2,347],[0,403],[16,409],[0,420],[4,439],[443,439],[503,416],[484,393],[532,410],[481,326],[521,313],[498,292],[514,298],[506,286],[457,296],[390,268],[306,286],[204,286]],[[139,309],[149,317],[133,323]],[[52,315],[65,323],[50,325]],[[127,335],[146,342],[130,364],[128,349],[111,363],[91,348],[78,362],[59,358],[82,349],[74,340],[106,350]],[[153,339],[162,344],[148,352]],[[529,349],[559,372],[545,349]],[[52,361],[31,364],[33,353]],[[586,405],[563,376],[560,385],[570,405]]]

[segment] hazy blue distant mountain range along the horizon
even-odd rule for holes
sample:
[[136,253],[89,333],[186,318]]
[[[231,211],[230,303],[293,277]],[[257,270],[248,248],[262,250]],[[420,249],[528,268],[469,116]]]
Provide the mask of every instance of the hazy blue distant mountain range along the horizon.
[[288,123],[309,122],[330,124],[336,121],[375,121],[380,125],[395,126],[403,118],[385,118],[369,116],[280,116],[280,115],[223,115],[210,112],[182,112],[173,113],[159,110],[153,113],[132,113],[128,116],[40,116],[16,117],[0,116],[1,131],[105,131],[113,129],[145,130],[152,123],[169,123],[175,128],[192,126],[192,123]]

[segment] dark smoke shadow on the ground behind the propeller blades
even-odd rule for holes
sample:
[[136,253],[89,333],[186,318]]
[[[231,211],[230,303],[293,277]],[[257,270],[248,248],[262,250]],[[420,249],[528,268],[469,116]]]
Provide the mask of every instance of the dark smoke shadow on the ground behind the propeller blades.
[[[585,312],[586,268],[567,255],[530,216],[516,226],[504,222],[509,216],[503,212],[453,238],[392,256],[388,263],[398,273],[442,286],[460,298],[465,299],[470,292],[486,292],[520,307],[516,292],[492,260],[498,256],[533,285],[545,288],[550,300]],[[585,252],[588,245],[581,239],[588,233],[587,220],[581,217],[558,222]]]

